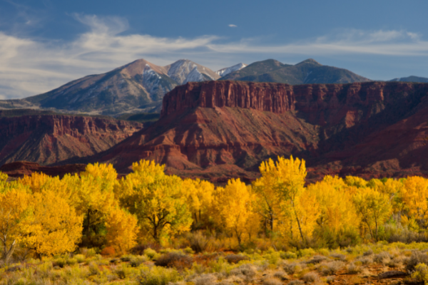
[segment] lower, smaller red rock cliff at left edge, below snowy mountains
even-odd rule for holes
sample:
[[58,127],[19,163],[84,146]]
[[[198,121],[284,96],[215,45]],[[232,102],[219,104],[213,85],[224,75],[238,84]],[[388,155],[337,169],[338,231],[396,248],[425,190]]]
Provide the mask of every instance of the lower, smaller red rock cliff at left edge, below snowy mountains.
[[2,117],[0,165],[17,160],[46,165],[93,155],[141,128],[141,123],[71,115]]

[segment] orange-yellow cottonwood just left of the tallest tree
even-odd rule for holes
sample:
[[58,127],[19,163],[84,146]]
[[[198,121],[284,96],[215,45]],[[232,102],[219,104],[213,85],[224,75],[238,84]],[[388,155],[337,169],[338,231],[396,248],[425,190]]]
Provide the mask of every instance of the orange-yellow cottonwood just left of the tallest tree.
[[239,179],[229,180],[228,185],[215,190],[215,208],[218,222],[232,232],[241,246],[243,240],[258,231],[258,215],[253,212],[253,195],[250,187]]

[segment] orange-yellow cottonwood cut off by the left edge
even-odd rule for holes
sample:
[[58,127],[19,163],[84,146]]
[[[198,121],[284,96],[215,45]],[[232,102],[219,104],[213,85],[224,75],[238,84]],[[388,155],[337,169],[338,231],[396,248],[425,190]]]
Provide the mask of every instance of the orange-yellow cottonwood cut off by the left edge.
[[0,189],[0,242],[2,259],[8,263],[14,249],[24,235],[24,224],[31,219],[31,194],[25,187],[2,185]]

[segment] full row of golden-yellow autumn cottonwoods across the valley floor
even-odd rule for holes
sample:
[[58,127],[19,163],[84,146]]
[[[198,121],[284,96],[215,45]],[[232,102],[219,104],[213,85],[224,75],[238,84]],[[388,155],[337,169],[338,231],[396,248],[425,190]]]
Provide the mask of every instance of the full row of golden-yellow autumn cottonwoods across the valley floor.
[[141,160],[118,180],[112,165],[87,165],[62,178],[34,173],[8,181],[0,172],[1,256],[16,248],[36,257],[77,247],[113,247],[125,253],[138,243],[163,243],[206,230],[290,247],[343,247],[386,237],[386,224],[424,232],[428,180],[363,180],[325,176],[305,185],[305,160],[277,157],[260,165],[251,185],[224,187],[165,175],[164,165]]

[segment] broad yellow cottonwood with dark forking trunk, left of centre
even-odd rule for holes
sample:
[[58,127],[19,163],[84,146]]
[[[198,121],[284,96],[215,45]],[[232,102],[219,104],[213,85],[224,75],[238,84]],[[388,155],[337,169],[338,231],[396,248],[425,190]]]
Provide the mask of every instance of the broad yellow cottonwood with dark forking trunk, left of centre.
[[135,162],[133,172],[116,187],[121,206],[136,215],[141,232],[156,242],[187,232],[192,224],[183,180],[165,175],[164,167],[146,160]]

